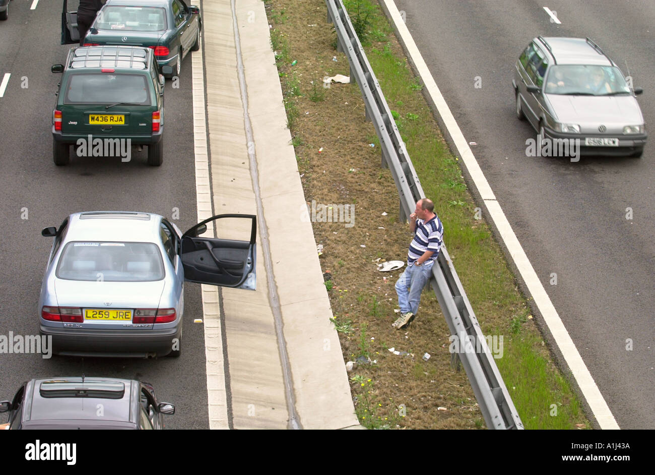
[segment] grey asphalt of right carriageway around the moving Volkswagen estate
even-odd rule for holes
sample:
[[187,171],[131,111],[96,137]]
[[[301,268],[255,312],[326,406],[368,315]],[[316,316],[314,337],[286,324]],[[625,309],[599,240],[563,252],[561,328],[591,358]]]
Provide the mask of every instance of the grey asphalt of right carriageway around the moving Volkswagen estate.
[[588,36],[644,88],[638,101],[652,124],[655,3],[395,1],[619,426],[655,428],[652,126],[641,159],[527,157],[536,134],[515,118],[512,88],[533,37]]

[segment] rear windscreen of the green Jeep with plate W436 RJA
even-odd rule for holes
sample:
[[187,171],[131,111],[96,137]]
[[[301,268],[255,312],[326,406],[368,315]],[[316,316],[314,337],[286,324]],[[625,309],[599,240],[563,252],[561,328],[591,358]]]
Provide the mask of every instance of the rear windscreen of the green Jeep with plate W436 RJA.
[[69,76],[64,104],[150,105],[150,92],[144,75],[79,73]]

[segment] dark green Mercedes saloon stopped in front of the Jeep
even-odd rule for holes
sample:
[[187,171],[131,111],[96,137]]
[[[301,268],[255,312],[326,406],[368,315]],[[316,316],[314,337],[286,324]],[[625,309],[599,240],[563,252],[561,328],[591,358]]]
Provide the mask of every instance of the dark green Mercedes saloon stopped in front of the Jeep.
[[107,0],[83,44],[151,48],[162,73],[172,77],[189,51],[200,49],[200,29],[200,9],[183,0]]

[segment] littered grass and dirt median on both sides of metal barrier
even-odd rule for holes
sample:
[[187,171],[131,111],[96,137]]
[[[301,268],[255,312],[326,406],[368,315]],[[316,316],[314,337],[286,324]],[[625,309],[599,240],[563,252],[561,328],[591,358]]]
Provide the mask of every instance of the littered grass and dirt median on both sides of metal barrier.
[[[324,83],[348,75],[326,22],[323,0],[265,0],[271,43],[303,181],[333,322],[360,422],[369,428],[482,428],[463,370],[453,369],[450,332],[432,290],[419,316],[394,330],[394,284],[403,269],[377,264],[407,258],[409,226],[398,219],[398,192],[381,168],[380,147],[364,119],[358,86]],[[485,221],[479,219],[458,160],[443,140],[376,3],[346,1],[426,197],[434,200],[445,243],[525,428],[589,427],[553,364],[527,299]],[[328,87],[329,86],[329,87]],[[476,219],[478,218],[478,219]],[[424,353],[430,354],[427,359]],[[350,365],[349,365],[350,366]]]

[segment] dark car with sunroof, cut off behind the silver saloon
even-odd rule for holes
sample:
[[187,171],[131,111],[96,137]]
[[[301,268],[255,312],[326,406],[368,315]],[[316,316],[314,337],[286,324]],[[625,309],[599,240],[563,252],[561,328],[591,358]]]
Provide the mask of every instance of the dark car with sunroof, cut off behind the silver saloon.
[[141,381],[58,377],[26,381],[11,401],[0,402],[2,412],[10,429],[162,429],[175,406],[159,402]]

